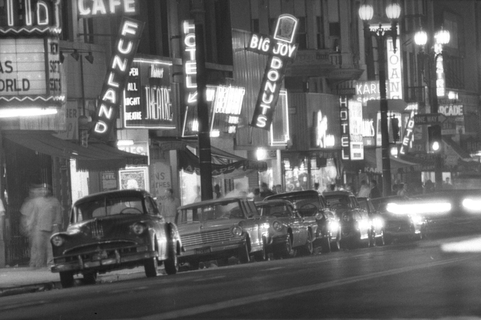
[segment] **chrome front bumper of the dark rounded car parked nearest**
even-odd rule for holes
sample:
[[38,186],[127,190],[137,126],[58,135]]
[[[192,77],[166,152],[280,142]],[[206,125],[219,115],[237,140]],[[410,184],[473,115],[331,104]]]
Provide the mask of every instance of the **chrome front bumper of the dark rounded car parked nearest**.
[[[141,247],[140,249],[143,249]],[[142,261],[147,258],[153,258],[157,256],[157,252],[149,249],[136,253],[121,254],[121,250],[114,249],[114,256],[110,255],[101,259],[85,259],[85,256],[93,256],[97,252],[82,253],[77,256],[64,256],[54,258],[55,265],[51,268],[52,272],[61,271],[81,271],[87,269],[110,269],[119,267],[123,264],[131,264],[135,261]]]

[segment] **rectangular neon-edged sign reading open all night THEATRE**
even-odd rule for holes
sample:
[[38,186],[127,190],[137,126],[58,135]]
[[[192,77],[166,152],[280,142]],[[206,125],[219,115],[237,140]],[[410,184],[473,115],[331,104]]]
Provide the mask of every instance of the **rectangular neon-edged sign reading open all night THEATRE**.
[[171,81],[172,62],[134,58],[124,89],[124,126],[175,129]]

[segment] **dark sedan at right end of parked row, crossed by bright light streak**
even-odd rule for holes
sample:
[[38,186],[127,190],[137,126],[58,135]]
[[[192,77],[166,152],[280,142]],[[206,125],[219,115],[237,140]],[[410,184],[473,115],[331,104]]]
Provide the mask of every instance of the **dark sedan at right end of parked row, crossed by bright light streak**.
[[395,239],[422,239],[428,230],[426,218],[408,208],[409,198],[389,196],[371,199],[372,204],[384,220],[384,238],[386,243]]

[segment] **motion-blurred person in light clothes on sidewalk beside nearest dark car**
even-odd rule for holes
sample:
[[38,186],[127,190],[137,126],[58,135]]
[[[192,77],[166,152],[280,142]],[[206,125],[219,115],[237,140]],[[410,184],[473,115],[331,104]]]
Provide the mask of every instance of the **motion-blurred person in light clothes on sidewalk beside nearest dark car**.
[[30,267],[42,268],[53,265],[50,237],[60,231],[62,206],[56,197],[51,196],[49,185],[37,188],[35,194],[38,196],[28,201],[24,210],[31,210],[26,223],[31,240]]

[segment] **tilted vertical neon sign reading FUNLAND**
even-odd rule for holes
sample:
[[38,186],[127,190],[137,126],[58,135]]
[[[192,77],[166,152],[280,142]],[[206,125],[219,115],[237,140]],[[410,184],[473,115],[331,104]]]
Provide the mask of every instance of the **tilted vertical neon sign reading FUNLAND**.
[[144,24],[127,17],[124,17],[120,24],[112,59],[100,94],[100,106],[93,119],[95,125],[90,132],[94,138],[101,140],[109,138]]

